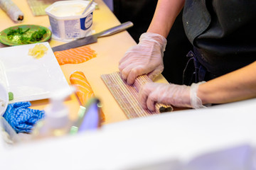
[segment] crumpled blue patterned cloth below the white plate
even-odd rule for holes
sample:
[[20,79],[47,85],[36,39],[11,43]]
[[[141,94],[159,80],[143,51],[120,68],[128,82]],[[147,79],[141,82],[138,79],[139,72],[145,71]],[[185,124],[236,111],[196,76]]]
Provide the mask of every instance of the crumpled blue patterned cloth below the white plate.
[[31,132],[33,125],[41,118],[44,118],[45,111],[28,108],[30,106],[31,103],[29,101],[11,103],[7,106],[3,117],[17,133]]

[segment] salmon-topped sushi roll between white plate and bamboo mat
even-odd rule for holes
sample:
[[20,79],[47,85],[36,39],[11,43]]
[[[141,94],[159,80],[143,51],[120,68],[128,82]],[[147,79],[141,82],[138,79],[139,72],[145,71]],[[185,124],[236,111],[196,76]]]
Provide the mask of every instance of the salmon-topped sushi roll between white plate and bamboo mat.
[[[70,83],[75,86],[75,93],[78,96],[82,106],[85,106],[90,98],[95,97],[95,94],[92,91],[92,87],[90,86],[83,72],[75,71],[70,74]],[[105,115],[102,112],[102,109],[100,113],[100,119],[101,122],[105,121]]]

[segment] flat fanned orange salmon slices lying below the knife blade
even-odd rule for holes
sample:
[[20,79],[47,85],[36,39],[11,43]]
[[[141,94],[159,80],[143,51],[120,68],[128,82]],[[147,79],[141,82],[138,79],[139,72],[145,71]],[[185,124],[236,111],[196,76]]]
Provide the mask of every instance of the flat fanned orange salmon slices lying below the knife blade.
[[54,52],[58,64],[79,64],[96,57],[95,50],[89,46],[71,48],[69,50]]

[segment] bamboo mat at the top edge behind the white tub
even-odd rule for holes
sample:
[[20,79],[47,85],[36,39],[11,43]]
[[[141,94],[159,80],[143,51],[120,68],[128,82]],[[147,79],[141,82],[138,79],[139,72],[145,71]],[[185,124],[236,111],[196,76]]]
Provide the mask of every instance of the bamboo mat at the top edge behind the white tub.
[[[45,16],[45,9],[58,0],[27,0],[34,16]],[[97,5],[95,9],[99,8]]]

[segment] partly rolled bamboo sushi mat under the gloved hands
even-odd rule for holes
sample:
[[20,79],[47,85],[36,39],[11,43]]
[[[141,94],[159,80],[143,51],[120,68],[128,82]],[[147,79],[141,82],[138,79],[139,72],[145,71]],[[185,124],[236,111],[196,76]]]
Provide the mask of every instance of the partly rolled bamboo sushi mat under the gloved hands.
[[142,108],[138,101],[139,88],[148,82],[152,82],[146,75],[137,77],[132,86],[123,81],[119,72],[103,74],[101,78],[129,119],[173,111],[171,106],[160,103],[156,103],[156,112],[151,112],[148,109]]

